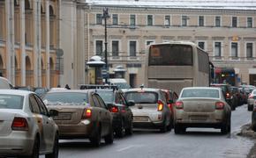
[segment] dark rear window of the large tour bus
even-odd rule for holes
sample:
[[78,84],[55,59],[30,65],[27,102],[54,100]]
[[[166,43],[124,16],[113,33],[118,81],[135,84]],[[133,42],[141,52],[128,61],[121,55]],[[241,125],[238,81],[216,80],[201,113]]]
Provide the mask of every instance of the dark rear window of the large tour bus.
[[152,45],[148,65],[192,66],[192,47],[189,45]]

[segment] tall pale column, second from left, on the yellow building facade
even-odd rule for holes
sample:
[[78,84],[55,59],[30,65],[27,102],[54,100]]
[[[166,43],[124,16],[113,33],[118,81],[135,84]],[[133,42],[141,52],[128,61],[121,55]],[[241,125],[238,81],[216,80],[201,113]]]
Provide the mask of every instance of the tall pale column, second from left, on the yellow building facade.
[[21,53],[21,86],[26,86],[26,44],[25,44],[25,0],[19,0],[20,18],[20,53]]

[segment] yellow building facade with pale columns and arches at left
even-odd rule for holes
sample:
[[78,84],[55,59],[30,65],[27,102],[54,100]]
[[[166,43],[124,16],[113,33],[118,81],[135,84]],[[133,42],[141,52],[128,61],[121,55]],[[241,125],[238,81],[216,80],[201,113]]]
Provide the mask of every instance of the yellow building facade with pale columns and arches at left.
[[0,0],[0,75],[15,86],[56,87],[57,0]]

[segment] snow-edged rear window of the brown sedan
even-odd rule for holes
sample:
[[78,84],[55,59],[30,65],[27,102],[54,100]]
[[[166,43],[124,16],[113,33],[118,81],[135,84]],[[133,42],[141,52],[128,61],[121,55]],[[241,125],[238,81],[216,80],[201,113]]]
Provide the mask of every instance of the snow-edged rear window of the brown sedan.
[[58,92],[47,93],[43,98],[45,104],[87,104],[87,93]]

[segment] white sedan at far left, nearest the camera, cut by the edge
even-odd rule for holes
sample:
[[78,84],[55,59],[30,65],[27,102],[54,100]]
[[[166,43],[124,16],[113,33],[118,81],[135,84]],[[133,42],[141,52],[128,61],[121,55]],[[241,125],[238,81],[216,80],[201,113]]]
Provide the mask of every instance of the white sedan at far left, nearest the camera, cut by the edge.
[[32,91],[0,90],[0,155],[46,158],[58,156],[58,127]]

